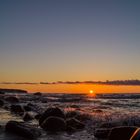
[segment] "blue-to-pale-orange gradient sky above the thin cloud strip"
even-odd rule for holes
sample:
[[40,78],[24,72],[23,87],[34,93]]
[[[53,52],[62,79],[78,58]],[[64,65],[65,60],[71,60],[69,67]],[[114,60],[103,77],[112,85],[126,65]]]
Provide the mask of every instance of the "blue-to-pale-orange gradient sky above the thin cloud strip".
[[139,0],[1,0],[0,82],[139,79],[139,7]]

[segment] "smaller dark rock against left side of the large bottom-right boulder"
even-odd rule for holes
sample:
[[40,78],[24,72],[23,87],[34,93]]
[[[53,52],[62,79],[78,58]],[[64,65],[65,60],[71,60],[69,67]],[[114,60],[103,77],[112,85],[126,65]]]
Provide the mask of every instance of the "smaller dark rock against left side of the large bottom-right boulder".
[[96,129],[94,136],[99,139],[107,139],[110,133],[110,129]]

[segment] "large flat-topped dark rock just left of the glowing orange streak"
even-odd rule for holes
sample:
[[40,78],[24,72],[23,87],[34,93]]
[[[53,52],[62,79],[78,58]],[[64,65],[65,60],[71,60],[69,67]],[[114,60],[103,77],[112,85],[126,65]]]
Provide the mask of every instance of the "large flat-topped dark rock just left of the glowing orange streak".
[[115,127],[109,133],[109,140],[129,140],[137,127]]

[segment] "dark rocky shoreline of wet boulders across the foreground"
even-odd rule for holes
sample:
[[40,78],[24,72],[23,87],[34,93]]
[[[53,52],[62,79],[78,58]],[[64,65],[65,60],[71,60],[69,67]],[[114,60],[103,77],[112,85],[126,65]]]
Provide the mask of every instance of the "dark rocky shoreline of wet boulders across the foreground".
[[[85,131],[88,131],[89,136],[83,137],[84,140],[87,138],[92,140],[129,140],[131,138],[131,140],[135,140],[140,136],[140,121],[135,121],[133,124],[127,124],[127,121],[125,123],[100,122],[93,127],[91,116],[75,110],[65,111],[61,104],[51,102],[50,105],[49,99],[45,100],[45,95],[41,93],[30,94],[26,97],[1,95],[0,108],[19,117],[20,121],[9,120],[5,125],[1,125],[0,131],[24,139],[41,139],[42,137],[45,139],[48,134],[53,136],[63,133],[67,135],[64,139],[68,140],[71,139],[71,136]],[[43,102],[46,107],[42,108],[40,102]],[[77,108],[76,105],[73,107]],[[96,111],[101,113],[101,110]],[[135,136],[133,136],[134,133]],[[76,138],[74,139],[76,140]]]

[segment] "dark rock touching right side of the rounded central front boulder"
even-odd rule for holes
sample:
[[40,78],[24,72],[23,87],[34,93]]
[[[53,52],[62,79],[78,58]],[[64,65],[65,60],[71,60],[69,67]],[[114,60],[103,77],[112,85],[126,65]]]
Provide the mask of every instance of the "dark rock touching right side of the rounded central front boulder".
[[66,120],[66,124],[68,128],[83,129],[85,127],[84,123],[80,122],[75,118]]

